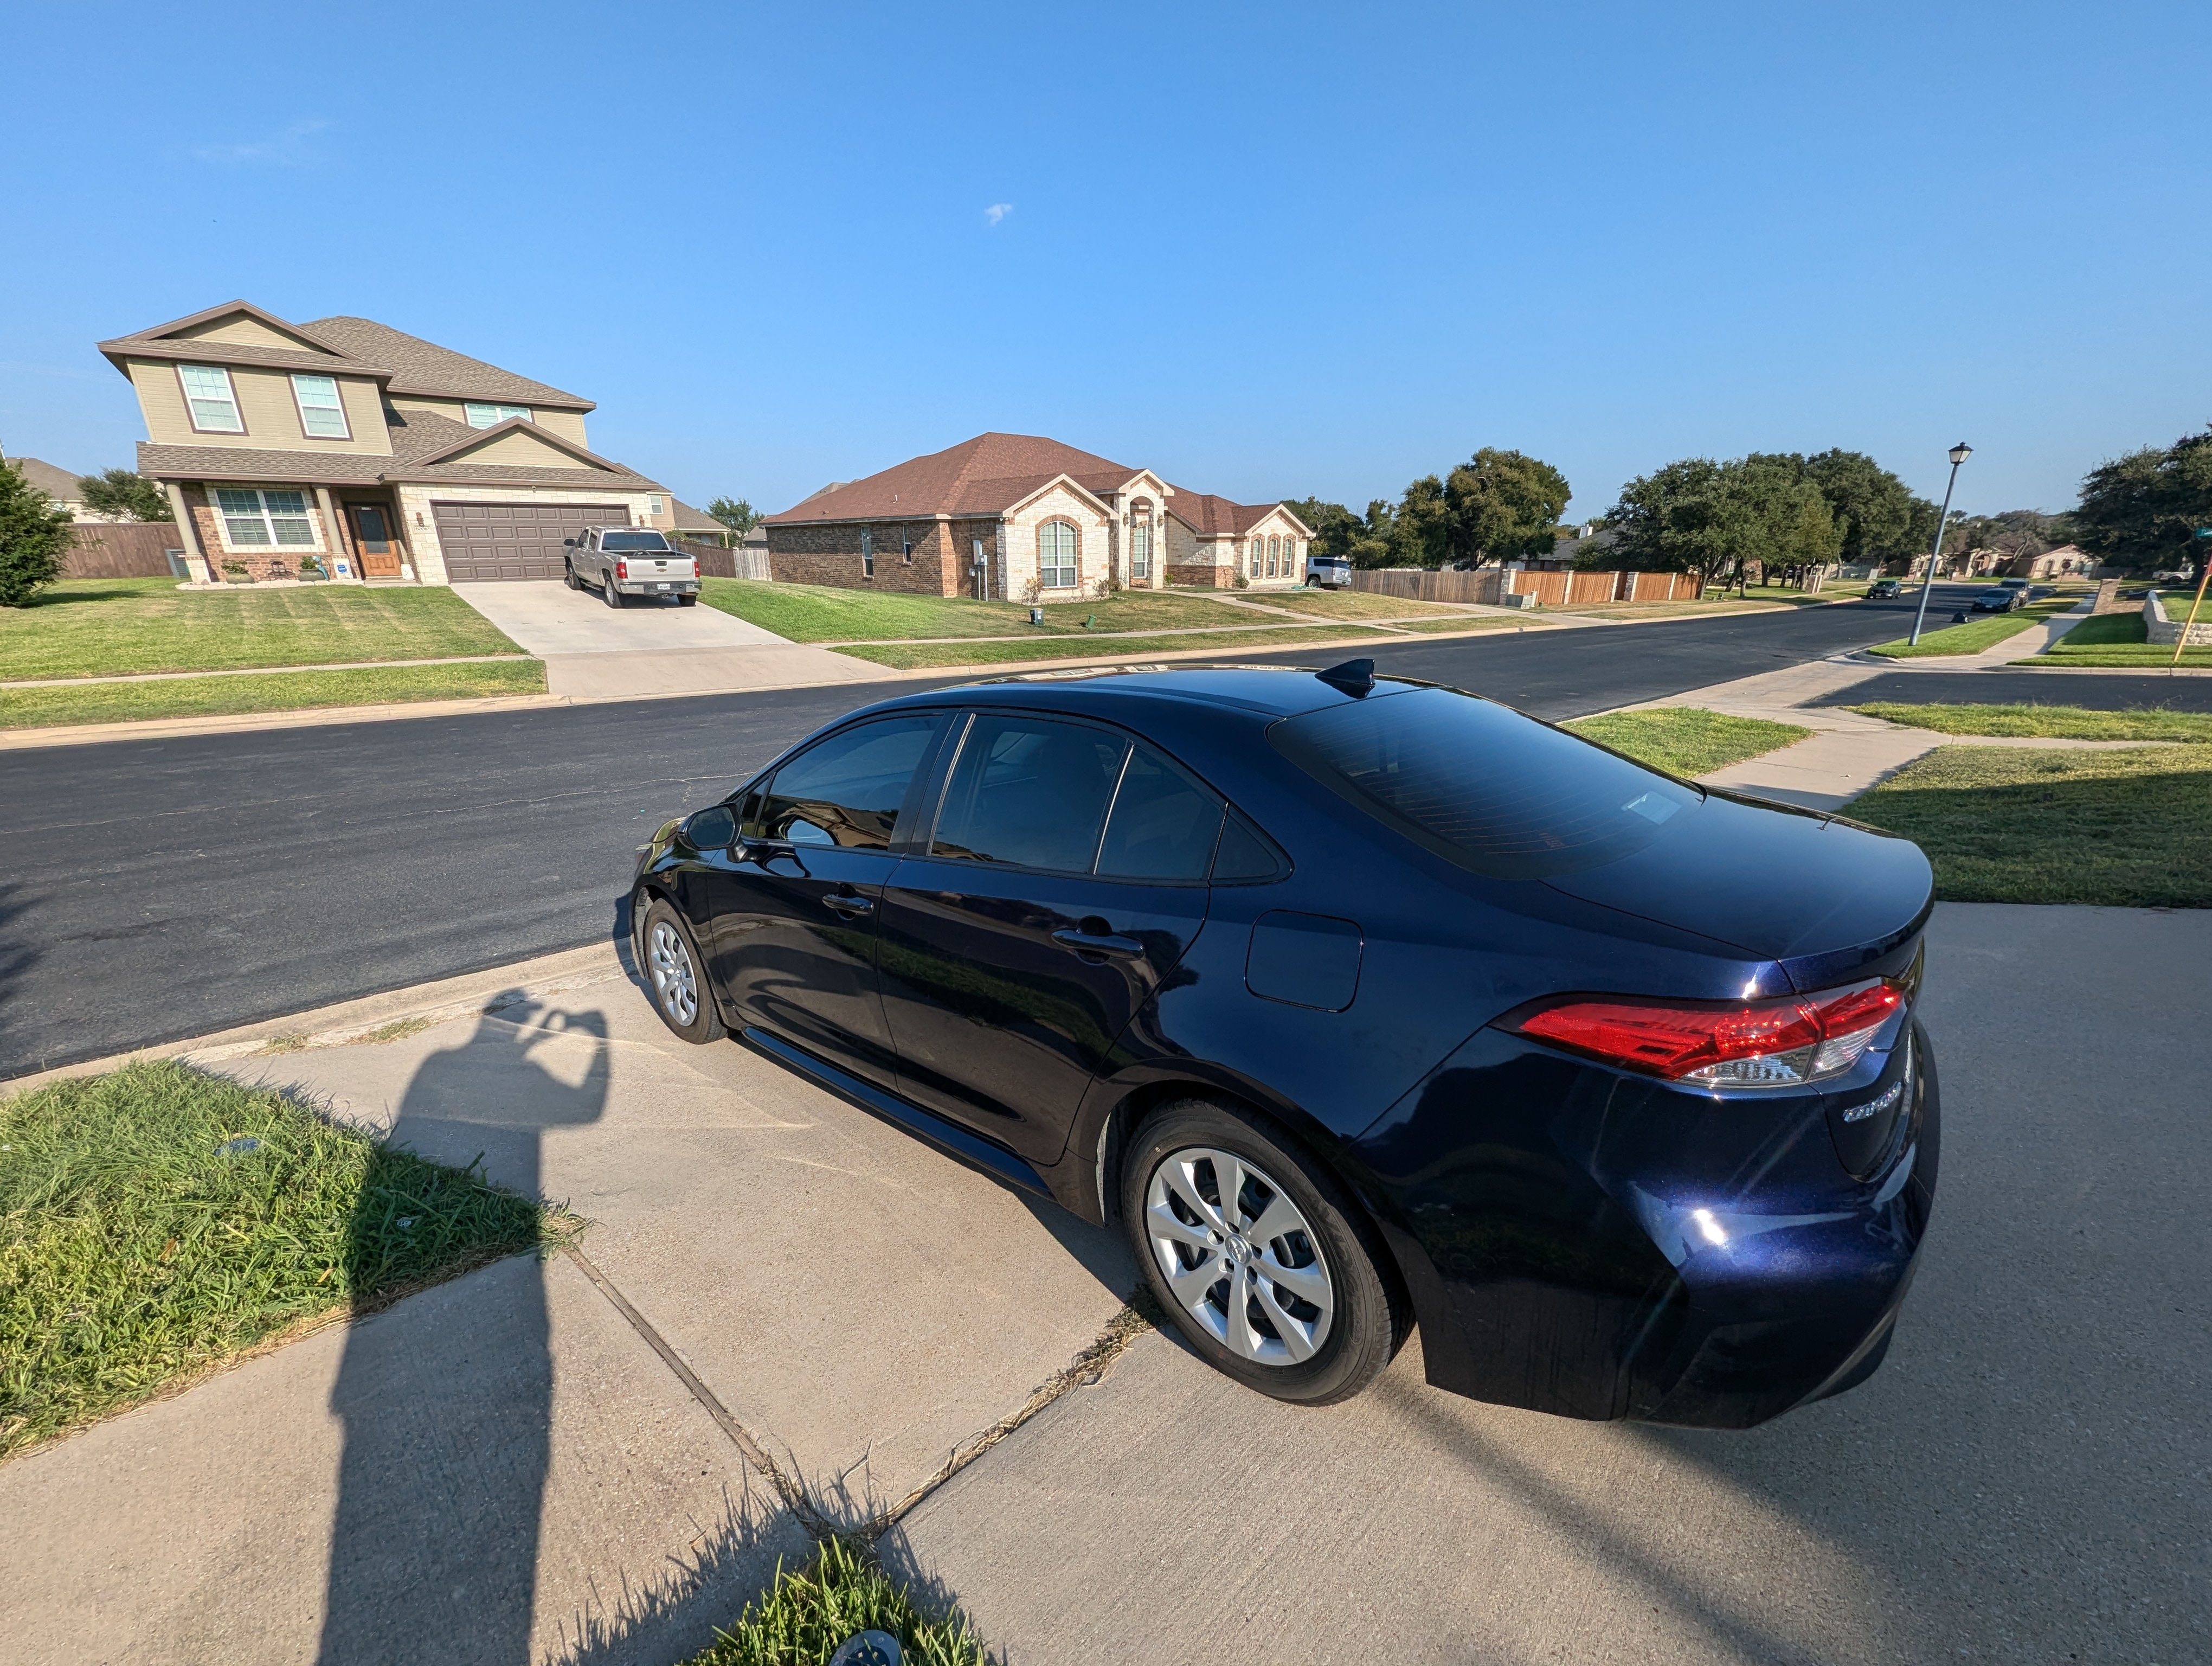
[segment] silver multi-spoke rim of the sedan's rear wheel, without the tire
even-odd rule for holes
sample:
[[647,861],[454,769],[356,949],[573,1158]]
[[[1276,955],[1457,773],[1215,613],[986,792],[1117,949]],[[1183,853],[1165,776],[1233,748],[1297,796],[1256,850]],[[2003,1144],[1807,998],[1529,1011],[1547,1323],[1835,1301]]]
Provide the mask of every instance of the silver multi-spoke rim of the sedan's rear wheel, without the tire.
[[1336,1292],[1305,1215],[1232,1150],[1186,1146],[1152,1170],[1144,1235],[1175,1299],[1259,1365],[1301,1365],[1329,1339]]

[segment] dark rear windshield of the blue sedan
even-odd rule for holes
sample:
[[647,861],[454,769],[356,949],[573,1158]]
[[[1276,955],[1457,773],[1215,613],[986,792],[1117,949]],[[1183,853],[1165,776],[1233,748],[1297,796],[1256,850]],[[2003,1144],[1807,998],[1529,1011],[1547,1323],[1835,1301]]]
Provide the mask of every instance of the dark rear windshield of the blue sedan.
[[1369,695],[1267,730],[1376,821],[1491,878],[1544,878],[1641,850],[1697,788],[1449,688]]

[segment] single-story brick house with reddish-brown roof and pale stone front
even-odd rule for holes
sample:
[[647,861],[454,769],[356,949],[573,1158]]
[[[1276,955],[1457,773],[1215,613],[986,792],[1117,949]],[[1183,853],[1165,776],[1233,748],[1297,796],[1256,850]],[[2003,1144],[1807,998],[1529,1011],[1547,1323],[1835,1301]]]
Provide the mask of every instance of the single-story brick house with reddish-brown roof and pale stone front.
[[1035,434],[978,434],[768,516],[774,577],[920,595],[1075,600],[1110,584],[1290,589],[1312,531]]

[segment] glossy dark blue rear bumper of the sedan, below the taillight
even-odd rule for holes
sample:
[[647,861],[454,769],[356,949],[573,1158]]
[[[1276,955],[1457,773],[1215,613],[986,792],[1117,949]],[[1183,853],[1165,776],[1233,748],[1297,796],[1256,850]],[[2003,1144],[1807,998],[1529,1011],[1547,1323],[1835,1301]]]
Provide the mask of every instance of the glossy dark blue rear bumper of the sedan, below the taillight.
[[[1498,1031],[1471,1040],[1352,1153],[1429,1381],[1559,1416],[1743,1429],[1871,1376],[1936,1195],[1927,1038],[1843,1082],[1721,1100]],[[1840,1122],[1889,1086],[1880,1126]]]

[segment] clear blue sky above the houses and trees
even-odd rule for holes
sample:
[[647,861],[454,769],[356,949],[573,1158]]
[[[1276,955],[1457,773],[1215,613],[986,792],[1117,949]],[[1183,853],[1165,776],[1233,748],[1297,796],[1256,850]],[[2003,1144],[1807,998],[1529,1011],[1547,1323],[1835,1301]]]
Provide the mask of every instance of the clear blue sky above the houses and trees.
[[[248,296],[783,509],[980,429],[1365,504],[1871,451],[1973,511],[2212,418],[2203,4],[13,4],[0,445]],[[1000,206],[993,210],[993,206]]]

